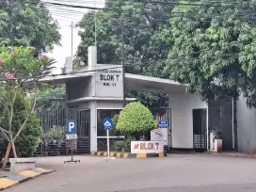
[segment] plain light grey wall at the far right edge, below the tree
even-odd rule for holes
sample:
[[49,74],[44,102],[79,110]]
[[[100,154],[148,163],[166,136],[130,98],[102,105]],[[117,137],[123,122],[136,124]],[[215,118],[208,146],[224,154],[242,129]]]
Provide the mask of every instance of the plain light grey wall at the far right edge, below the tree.
[[239,152],[256,152],[256,109],[249,109],[244,97],[237,101],[237,145]]

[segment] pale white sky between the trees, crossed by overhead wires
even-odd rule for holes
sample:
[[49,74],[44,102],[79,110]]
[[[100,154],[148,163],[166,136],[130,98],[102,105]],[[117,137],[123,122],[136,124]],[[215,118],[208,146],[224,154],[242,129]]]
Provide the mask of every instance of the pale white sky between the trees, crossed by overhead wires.
[[[46,0],[43,0],[46,2]],[[87,7],[104,7],[104,0],[47,0],[47,2],[56,2],[61,4],[87,6]],[[72,35],[72,22],[77,24],[82,20],[83,15],[88,12],[86,8],[67,8],[60,6],[48,5],[52,16],[57,20],[59,24],[59,33],[61,34],[61,46],[55,46],[52,53],[48,53],[47,56],[56,59],[54,73],[60,73],[61,68],[64,67],[65,58],[76,54],[77,47],[80,43],[80,37],[78,36],[79,28],[73,28]],[[73,43],[72,43],[73,40]],[[72,46],[73,44],[73,46]],[[73,47],[73,48],[72,48]]]

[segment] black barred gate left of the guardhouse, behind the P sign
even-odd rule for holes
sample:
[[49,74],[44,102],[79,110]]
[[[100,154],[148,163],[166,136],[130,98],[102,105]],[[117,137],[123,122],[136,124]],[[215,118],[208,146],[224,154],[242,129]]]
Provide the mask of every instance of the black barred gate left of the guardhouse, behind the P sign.
[[69,142],[65,136],[68,120],[75,120],[77,140],[73,142],[74,153],[89,153],[89,109],[59,108],[38,111],[42,138],[35,156],[71,154]]

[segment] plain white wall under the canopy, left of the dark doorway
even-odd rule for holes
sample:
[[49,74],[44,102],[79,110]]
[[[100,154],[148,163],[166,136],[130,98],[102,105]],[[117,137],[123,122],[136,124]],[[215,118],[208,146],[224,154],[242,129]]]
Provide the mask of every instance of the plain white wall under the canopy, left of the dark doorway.
[[208,110],[208,105],[200,101],[199,95],[190,93],[170,94],[169,104],[171,107],[172,148],[193,149],[192,111],[197,108]]

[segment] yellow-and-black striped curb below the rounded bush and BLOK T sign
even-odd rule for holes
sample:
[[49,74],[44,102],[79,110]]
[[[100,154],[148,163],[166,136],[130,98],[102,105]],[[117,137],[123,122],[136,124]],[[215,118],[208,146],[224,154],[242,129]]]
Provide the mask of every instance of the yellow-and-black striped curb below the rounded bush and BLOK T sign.
[[[104,156],[107,157],[107,152],[91,152],[92,156]],[[167,153],[159,152],[159,153],[129,153],[129,152],[110,152],[110,157],[117,158],[151,158],[151,157],[166,157]]]

